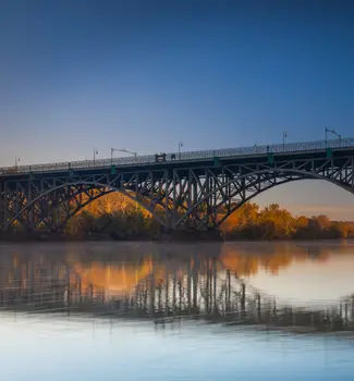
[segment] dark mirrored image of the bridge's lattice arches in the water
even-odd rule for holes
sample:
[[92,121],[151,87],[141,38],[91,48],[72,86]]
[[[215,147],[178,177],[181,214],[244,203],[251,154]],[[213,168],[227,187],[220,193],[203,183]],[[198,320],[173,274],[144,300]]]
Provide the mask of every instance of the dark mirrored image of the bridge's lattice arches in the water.
[[158,323],[193,318],[302,332],[354,330],[354,296],[325,309],[296,308],[255,290],[218,256],[155,259],[89,265],[52,256],[11,258],[0,271],[0,308]]

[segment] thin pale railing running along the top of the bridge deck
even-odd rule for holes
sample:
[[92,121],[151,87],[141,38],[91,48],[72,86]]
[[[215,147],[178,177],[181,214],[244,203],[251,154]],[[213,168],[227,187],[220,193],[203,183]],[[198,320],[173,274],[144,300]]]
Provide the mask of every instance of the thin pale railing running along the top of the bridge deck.
[[[332,140],[317,140],[317,142],[302,142],[288,143],[277,145],[254,145],[252,147],[240,148],[222,148],[215,150],[199,150],[186,152],[166,153],[166,161],[190,161],[208,158],[225,158],[235,156],[252,156],[252,155],[267,155],[267,153],[291,153],[313,150],[326,150],[327,148],[350,148],[354,147],[354,138],[332,139]],[[62,170],[80,170],[90,168],[105,168],[110,165],[134,165],[155,163],[155,155],[144,155],[137,157],[98,159],[98,160],[81,160],[71,162],[57,162],[36,165],[16,165],[0,168],[0,175],[3,174],[21,174],[32,172],[51,172]]]

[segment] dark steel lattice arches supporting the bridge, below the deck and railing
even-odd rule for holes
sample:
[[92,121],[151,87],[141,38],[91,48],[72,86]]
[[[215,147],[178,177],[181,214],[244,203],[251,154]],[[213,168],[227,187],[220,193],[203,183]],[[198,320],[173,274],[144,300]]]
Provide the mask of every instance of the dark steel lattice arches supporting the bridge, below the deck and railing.
[[[242,205],[274,186],[310,179],[353,194],[354,157],[29,174],[1,184],[0,223],[1,229],[19,221],[28,230],[38,224],[53,230],[95,199],[119,192],[167,229],[204,230],[219,226]],[[63,218],[56,216],[60,207]]]

